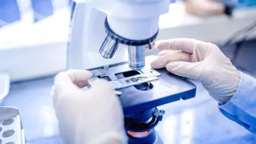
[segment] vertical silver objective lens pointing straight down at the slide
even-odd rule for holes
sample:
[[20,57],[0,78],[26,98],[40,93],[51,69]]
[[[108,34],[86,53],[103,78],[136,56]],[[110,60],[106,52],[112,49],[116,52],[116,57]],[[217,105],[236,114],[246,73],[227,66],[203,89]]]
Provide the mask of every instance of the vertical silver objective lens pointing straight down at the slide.
[[142,69],[145,66],[145,45],[128,46],[129,67],[134,70]]

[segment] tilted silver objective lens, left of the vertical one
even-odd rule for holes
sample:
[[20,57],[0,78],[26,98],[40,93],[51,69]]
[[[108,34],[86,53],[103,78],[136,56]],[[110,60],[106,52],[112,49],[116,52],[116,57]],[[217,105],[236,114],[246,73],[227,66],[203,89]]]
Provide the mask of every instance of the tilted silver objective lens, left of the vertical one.
[[118,42],[107,36],[100,47],[100,55],[105,59],[111,59],[115,54],[118,46]]

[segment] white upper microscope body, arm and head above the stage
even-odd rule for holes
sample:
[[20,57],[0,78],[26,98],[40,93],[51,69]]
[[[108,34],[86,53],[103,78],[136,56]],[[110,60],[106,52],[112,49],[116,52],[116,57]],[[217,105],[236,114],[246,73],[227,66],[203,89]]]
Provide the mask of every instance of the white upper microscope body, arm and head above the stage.
[[[131,55],[136,59],[137,47],[141,43],[131,48],[127,41],[140,42],[156,36],[159,15],[168,12],[169,3],[169,0],[75,0],[71,12],[67,68],[90,69],[131,61]],[[125,44],[113,42],[106,34],[105,20],[114,34],[126,39]],[[106,44],[107,49],[117,44],[113,58],[103,58],[99,52]],[[140,59],[145,60],[142,49],[141,53]],[[139,69],[142,67],[143,64]]]

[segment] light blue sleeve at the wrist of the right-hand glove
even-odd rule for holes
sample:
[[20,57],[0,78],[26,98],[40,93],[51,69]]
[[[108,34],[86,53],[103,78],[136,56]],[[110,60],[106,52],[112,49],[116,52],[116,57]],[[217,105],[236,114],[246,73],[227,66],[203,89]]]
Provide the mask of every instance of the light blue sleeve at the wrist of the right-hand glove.
[[256,134],[256,79],[241,73],[235,95],[225,105],[219,105],[223,115]]

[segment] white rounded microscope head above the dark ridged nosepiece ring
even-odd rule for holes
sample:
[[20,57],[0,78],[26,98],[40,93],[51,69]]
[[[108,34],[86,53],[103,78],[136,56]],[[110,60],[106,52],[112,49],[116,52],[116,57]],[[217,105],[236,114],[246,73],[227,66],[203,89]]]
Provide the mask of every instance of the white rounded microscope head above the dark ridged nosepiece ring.
[[158,31],[159,15],[169,11],[169,0],[90,0],[107,14],[108,25],[115,34],[141,41]]

